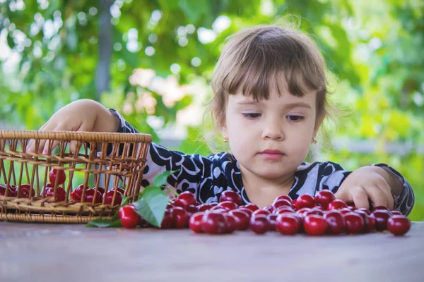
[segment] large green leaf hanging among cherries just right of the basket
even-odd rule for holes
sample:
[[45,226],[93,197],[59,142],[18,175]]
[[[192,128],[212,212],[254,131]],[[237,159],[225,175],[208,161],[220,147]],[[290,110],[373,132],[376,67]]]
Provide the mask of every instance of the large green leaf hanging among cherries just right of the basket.
[[143,190],[143,196],[137,202],[134,202],[137,214],[153,226],[160,227],[165,208],[168,203],[168,197],[159,187],[147,186]]

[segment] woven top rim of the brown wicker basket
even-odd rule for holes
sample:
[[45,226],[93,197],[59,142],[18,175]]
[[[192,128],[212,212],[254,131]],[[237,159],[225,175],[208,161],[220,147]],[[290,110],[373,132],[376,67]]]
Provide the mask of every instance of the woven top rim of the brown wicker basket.
[[39,130],[0,130],[0,139],[24,139],[24,140],[59,140],[59,141],[83,141],[83,142],[144,142],[151,143],[152,135],[146,133],[107,133],[90,131],[39,131]]

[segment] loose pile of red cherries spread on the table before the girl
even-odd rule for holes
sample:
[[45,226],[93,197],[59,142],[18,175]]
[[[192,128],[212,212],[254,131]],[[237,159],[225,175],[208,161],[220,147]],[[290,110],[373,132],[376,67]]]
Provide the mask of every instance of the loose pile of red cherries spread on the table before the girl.
[[[131,204],[119,209],[119,219],[124,228],[150,227]],[[278,231],[283,235],[339,235],[388,230],[394,235],[404,235],[411,228],[411,221],[387,207],[357,209],[336,200],[329,190],[322,190],[314,197],[301,195],[296,200],[281,195],[263,209],[256,204],[242,206],[240,195],[226,190],[220,195],[219,203],[211,204],[199,204],[191,192],[182,192],[167,204],[161,228],[190,228],[195,233],[207,234],[250,229],[257,234]]]

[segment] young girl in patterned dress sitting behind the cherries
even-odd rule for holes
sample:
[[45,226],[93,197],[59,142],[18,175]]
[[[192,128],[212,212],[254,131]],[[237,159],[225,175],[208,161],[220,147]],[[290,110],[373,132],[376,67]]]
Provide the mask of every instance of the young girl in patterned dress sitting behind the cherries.
[[[232,35],[216,64],[210,103],[231,153],[204,157],[152,143],[142,185],[179,170],[168,184],[193,192],[200,203],[234,190],[244,204],[264,207],[279,195],[296,199],[329,189],[356,207],[369,208],[370,201],[409,214],[411,185],[386,164],[345,171],[331,161],[304,162],[327,115],[325,69],[314,42],[296,30],[269,25]],[[138,133],[114,109],[86,99],[64,106],[40,130]]]

